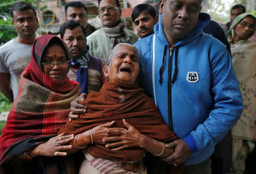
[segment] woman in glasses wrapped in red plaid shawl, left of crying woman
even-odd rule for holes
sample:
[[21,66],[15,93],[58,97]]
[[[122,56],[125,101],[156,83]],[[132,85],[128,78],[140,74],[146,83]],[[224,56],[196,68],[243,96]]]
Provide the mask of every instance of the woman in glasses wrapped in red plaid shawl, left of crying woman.
[[63,40],[45,35],[34,42],[31,63],[20,77],[18,97],[2,130],[0,173],[68,172],[60,156],[67,155],[63,150],[71,148],[67,143],[74,136],[56,136],[68,120],[70,102],[80,93],[68,71]]

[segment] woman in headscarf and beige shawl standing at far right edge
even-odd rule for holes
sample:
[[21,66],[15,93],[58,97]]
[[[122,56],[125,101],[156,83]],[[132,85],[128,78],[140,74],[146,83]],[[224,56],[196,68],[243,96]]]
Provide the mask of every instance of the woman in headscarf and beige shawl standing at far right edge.
[[248,173],[245,160],[250,152],[254,151],[255,153],[256,43],[250,39],[254,32],[255,16],[244,13],[234,19],[227,34],[230,40],[232,64],[240,85],[244,105],[241,118],[232,128],[233,166],[230,173]]

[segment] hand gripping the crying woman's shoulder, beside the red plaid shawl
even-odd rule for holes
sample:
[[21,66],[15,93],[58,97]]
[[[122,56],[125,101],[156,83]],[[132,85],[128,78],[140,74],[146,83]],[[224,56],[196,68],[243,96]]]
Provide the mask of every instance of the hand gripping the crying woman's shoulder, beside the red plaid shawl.
[[79,104],[79,101],[84,101],[87,94],[82,93],[80,96],[77,96],[75,100],[73,100],[70,104],[70,113],[68,114],[68,120],[69,122],[72,121],[72,119],[77,119],[79,116],[77,114],[86,113],[87,107],[84,105]]

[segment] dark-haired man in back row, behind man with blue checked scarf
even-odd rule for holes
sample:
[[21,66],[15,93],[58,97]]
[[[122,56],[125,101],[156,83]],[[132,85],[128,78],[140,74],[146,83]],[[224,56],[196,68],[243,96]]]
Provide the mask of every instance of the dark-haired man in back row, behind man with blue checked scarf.
[[87,9],[84,3],[72,1],[65,4],[65,20],[74,19],[81,23],[85,28],[86,37],[96,31],[96,28],[90,25],[87,20]]

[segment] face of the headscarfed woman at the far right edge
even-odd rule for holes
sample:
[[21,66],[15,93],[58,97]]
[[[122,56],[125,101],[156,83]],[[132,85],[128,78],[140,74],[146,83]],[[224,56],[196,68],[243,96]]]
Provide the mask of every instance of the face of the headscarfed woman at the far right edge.
[[247,16],[240,23],[237,24],[236,30],[234,30],[234,35],[236,35],[240,40],[247,40],[253,35],[255,31],[255,20],[251,16]]

